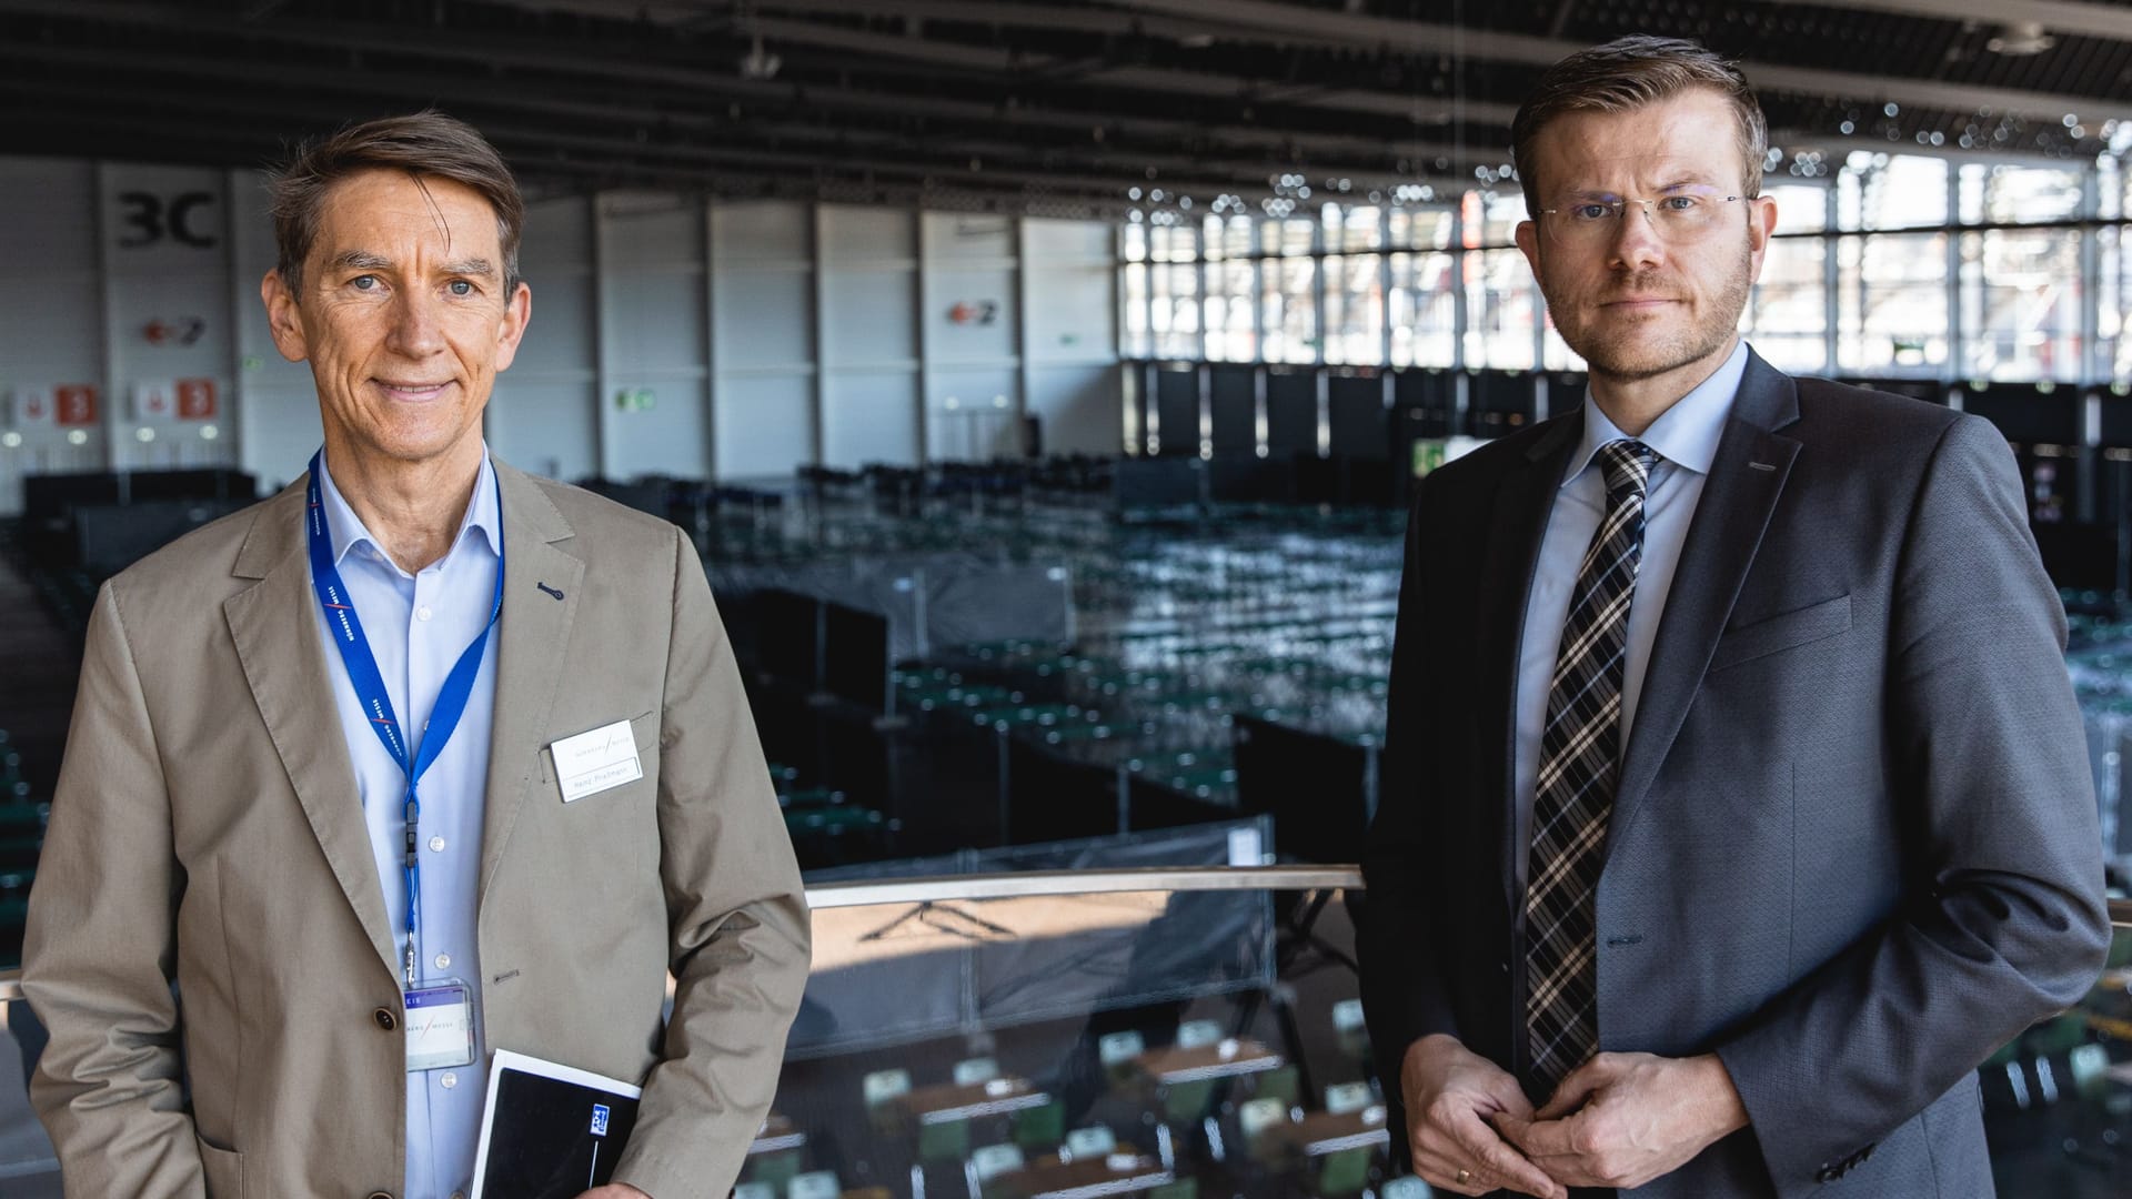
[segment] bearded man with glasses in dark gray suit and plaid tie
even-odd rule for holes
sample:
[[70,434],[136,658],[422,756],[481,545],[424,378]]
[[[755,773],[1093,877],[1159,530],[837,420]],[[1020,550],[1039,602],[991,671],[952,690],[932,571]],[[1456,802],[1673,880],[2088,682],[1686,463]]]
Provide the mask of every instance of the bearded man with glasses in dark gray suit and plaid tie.
[[1458,1195],[1991,1193],[1976,1065],[2109,941],[2013,459],[1735,329],[1740,73],[1622,38],[1514,126],[1580,412],[1414,503],[1362,998]]

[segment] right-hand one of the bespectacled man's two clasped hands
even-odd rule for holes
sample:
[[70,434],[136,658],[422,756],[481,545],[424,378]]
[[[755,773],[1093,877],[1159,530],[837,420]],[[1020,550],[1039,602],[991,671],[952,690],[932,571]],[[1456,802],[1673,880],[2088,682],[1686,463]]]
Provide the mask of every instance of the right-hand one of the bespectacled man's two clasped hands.
[[1495,1126],[1565,1186],[1631,1188],[1671,1173],[1746,1126],[1746,1107],[1716,1054],[1597,1054],[1524,1116]]

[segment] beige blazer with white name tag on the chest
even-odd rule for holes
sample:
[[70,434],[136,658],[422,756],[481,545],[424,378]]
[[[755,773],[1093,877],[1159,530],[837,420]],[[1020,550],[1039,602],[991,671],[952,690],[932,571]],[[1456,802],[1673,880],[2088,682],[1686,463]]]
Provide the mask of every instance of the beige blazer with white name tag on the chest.
[[[676,527],[503,463],[497,478],[486,1045],[644,1080],[616,1180],[718,1197],[808,973],[731,642]],[[298,482],[98,595],[23,952],[51,1028],[32,1099],[68,1195],[401,1190],[394,939],[303,503]],[[546,747],[625,717],[644,779],[563,804]]]

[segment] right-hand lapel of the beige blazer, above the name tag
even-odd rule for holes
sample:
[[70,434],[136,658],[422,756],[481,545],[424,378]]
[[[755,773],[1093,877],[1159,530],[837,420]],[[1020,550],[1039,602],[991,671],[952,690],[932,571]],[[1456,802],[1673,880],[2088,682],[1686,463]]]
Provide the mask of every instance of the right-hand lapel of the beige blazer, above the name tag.
[[484,898],[533,783],[584,578],[584,561],[561,548],[574,531],[539,484],[501,461],[492,463],[503,493],[503,619],[482,813]]

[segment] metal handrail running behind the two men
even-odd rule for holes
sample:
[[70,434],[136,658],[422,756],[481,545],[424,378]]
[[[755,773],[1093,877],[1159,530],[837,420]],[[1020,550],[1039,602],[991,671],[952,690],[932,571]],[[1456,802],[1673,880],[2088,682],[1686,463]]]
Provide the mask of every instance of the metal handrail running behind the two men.
[[[851,879],[808,888],[810,909],[1104,892],[1358,890],[1360,866],[1143,866],[1130,870],[1013,870],[925,879]],[[2111,924],[2132,928],[2132,900],[2109,900]],[[0,971],[0,1001],[21,998],[21,971]]]

